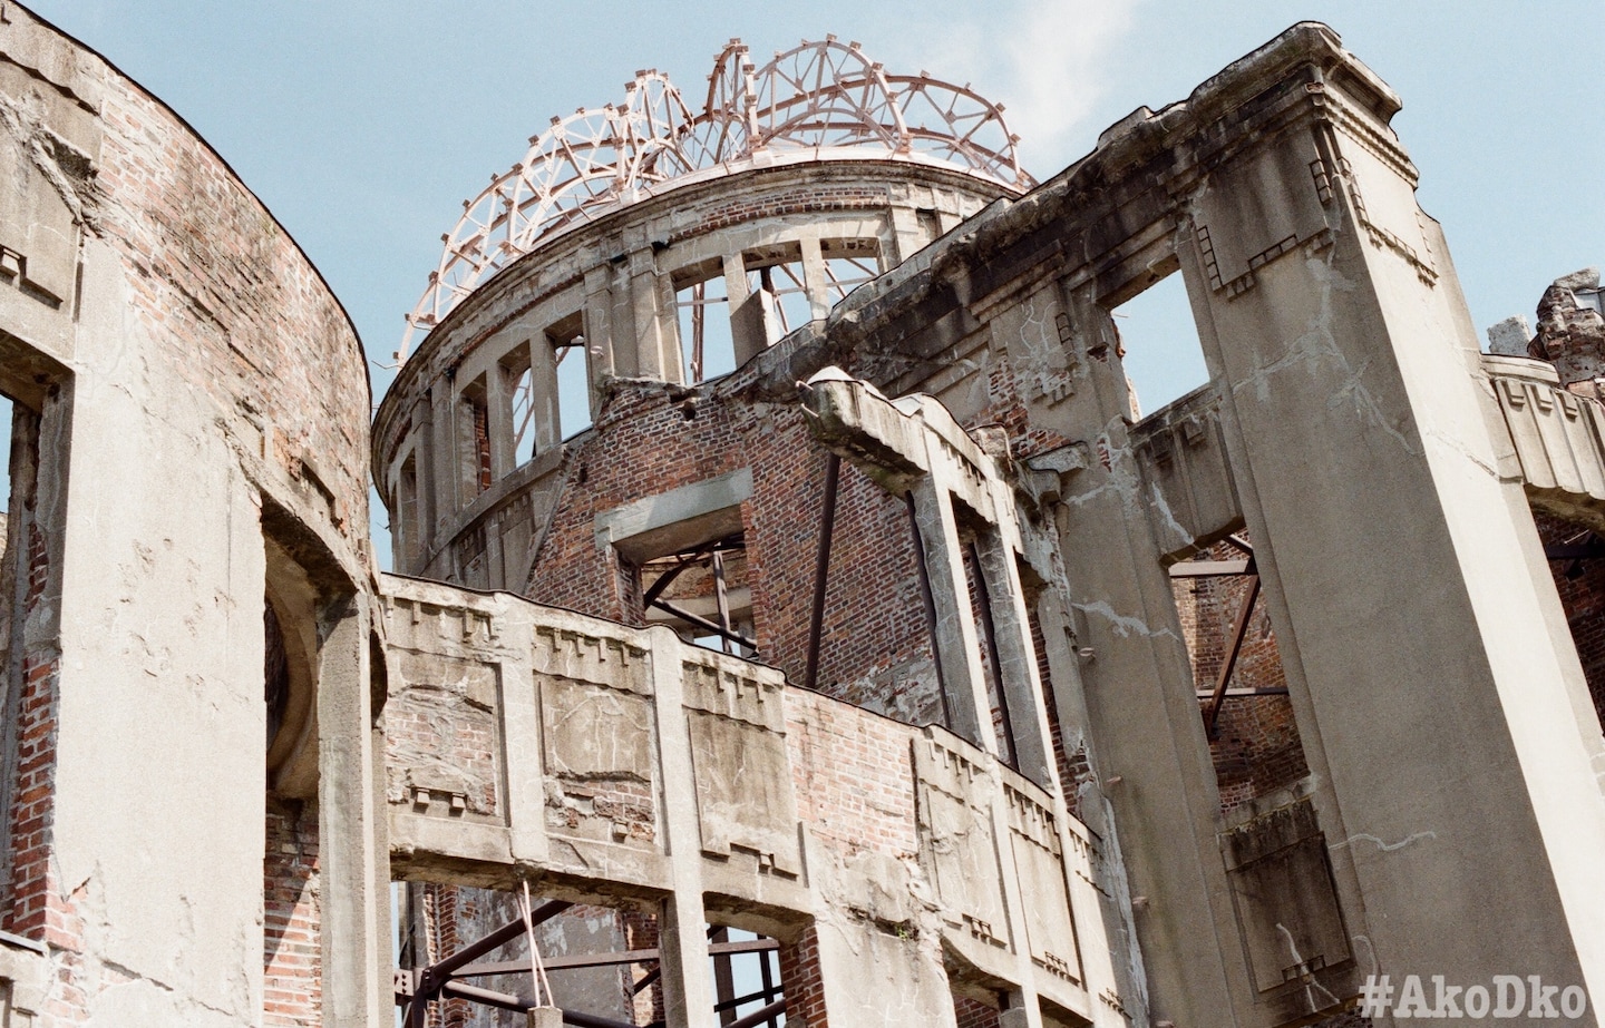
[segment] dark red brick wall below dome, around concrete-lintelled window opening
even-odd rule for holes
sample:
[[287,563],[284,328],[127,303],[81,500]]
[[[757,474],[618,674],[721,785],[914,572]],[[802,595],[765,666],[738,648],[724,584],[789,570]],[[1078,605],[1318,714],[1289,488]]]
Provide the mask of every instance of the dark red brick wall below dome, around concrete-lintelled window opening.
[[[687,417],[669,390],[621,385],[568,457],[567,483],[526,593],[644,624],[634,571],[597,547],[595,516],[647,496],[750,467],[746,581],[759,659],[801,683],[823,510],[825,451],[794,407],[701,403]],[[844,463],[820,646],[819,686],[880,710],[941,720],[912,526],[899,497]]]

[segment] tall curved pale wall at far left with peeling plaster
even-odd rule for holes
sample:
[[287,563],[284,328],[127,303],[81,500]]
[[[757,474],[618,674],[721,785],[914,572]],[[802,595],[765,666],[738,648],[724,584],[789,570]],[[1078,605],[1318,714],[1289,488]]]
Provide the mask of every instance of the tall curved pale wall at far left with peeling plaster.
[[366,614],[342,606],[371,565],[355,334],[172,111],[16,5],[0,53],[0,388],[37,439],[6,576],[5,927],[48,946],[40,1023],[289,1015],[265,1012],[263,597],[292,571],[321,643],[310,930],[345,954],[292,1006],[368,1023],[382,852],[363,779],[332,775],[371,731]]

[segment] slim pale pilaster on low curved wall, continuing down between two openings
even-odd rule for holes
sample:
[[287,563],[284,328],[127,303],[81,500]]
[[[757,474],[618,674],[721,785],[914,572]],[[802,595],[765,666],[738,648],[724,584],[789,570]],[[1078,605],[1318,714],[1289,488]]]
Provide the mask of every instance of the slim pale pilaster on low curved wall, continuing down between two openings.
[[[658,715],[663,781],[693,783],[690,731],[685,725],[681,682],[681,640],[669,629],[652,629],[652,693]],[[663,953],[663,1012],[679,1028],[713,1023],[713,981],[708,969],[708,914],[703,909],[701,824],[695,791],[663,795],[663,821],[674,893],[658,914]]]

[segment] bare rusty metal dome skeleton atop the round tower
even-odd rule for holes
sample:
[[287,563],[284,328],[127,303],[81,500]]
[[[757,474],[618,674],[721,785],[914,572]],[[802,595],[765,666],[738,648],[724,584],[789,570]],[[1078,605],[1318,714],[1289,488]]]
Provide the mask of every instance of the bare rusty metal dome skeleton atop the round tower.
[[833,35],[756,67],[740,40],[714,61],[693,112],[669,79],[637,72],[621,104],[554,117],[493,175],[441,239],[440,266],[406,316],[396,359],[480,282],[565,228],[746,164],[889,159],[952,167],[1011,189],[1019,167],[1003,106],[928,74],[894,75]]

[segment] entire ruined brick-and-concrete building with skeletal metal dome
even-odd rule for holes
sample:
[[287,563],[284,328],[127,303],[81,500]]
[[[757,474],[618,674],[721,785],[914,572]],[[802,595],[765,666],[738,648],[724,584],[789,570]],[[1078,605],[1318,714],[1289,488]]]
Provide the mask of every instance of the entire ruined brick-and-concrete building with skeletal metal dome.
[[[1324,26],[1040,183],[855,45],[645,72],[467,205],[371,428],[223,160],[0,55],[0,1025],[1605,994],[1597,281],[1480,354]],[[1138,417],[1172,274],[1210,380]]]

